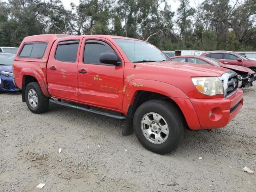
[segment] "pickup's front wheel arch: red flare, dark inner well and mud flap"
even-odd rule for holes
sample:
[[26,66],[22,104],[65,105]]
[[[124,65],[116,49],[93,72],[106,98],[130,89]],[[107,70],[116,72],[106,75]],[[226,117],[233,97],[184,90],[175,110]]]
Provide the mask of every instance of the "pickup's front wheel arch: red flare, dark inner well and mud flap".
[[124,88],[123,109],[126,120],[122,130],[122,135],[133,133],[132,119],[136,109],[146,101],[162,99],[173,103],[181,112],[184,120],[186,118],[180,106],[171,98],[188,98],[188,96],[176,86],[154,80],[132,80]]

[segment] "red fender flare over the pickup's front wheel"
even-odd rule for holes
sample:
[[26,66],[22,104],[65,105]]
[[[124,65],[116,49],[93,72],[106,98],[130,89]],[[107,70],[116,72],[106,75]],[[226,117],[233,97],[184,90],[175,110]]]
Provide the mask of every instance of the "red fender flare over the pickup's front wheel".
[[179,88],[166,82],[147,80],[147,79],[133,79],[124,86],[124,102],[123,112],[127,114],[129,106],[133,103],[136,93],[138,91],[149,91],[174,98],[188,98],[188,96]]

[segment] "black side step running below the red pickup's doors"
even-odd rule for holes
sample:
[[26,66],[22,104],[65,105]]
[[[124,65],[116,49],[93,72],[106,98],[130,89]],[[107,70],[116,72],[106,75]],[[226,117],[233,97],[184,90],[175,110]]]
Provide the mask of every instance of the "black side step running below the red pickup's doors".
[[53,99],[50,99],[50,102],[58,104],[58,105],[66,106],[66,107],[71,107],[71,108],[80,109],[80,110],[83,110],[83,111],[99,114],[99,115],[104,115],[104,116],[115,118],[115,119],[118,119],[118,120],[125,120],[125,116],[119,116],[119,115],[114,115],[114,114],[110,114],[110,113],[106,113],[106,112],[101,112],[101,111],[97,111],[97,110],[90,109],[90,108],[80,107],[80,106],[72,105],[72,104],[69,104],[69,103],[56,101],[56,100],[53,100]]

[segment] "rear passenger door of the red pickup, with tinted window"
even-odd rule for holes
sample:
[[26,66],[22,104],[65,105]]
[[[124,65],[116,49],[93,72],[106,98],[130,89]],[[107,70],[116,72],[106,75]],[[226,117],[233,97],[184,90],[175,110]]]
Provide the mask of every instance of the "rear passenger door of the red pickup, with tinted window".
[[52,47],[46,68],[48,91],[56,98],[78,100],[77,65],[80,39],[59,39]]

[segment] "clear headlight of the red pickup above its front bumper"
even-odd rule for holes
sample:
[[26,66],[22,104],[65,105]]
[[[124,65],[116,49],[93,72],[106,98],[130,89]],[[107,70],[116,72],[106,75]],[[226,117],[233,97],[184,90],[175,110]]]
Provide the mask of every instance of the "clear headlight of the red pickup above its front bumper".
[[202,94],[209,96],[224,94],[222,81],[218,77],[193,77],[192,82]]

